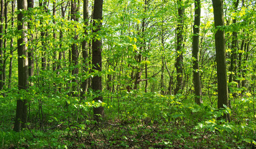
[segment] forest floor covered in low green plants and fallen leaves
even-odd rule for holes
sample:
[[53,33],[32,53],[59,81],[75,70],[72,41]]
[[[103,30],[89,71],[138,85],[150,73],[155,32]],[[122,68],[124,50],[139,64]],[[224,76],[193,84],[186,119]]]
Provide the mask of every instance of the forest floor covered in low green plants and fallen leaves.
[[1,99],[0,148],[256,147],[256,122],[249,114],[232,111],[229,123],[217,120],[224,112],[229,112],[227,109],[217,111],[206,104],[182,103],[173,97],[146,96],[124,100],[119,106],[117,102],[109,102],[100,123],[92,120],[92,107],[62,109],[46,102],[42,118],[37,108],[32,107],[38,104],[34,101],[31,102],[29,127],[19,133],[12,131],[14,100]]

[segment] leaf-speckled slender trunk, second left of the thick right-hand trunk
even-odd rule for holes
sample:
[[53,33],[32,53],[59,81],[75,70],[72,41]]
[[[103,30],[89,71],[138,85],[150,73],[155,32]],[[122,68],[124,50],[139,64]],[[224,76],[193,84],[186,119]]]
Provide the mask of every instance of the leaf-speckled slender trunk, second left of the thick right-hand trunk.
[[176,48],[176,71],[177,71],[177,84],[174,94],[182,92],[183,85],[183,20],[184,20],[184,7],[183,0],[178,0],[178,27],[177,27],[177,48]]

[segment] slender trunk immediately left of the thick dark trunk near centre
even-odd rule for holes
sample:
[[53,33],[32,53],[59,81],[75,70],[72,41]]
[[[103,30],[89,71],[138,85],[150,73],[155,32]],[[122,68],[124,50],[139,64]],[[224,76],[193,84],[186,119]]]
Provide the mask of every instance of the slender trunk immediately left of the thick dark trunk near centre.
[[[82,42],[82,62],[83,62],[83,70],[82,73],[83,75],[88,73],[88,41],[87,41],[87,26],[89,22],[89,9],[88,9],[88,0],[83,0],[83,23],[85,24],[85,32],[84,34],[84,40]],[[87,92],[88,89],[88,79],[82,79],[82,84],[81,84],[82,92],[81,92],[81,97],[82,99],[84,98],[84,94]]]

